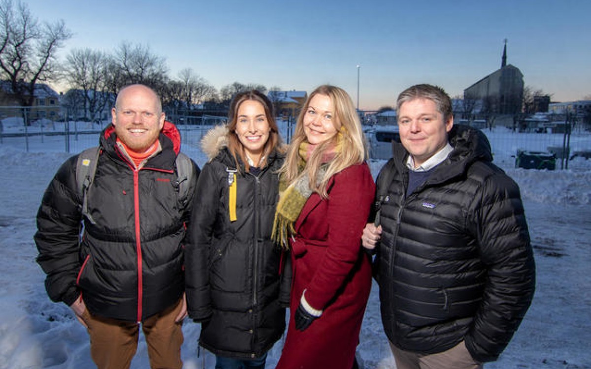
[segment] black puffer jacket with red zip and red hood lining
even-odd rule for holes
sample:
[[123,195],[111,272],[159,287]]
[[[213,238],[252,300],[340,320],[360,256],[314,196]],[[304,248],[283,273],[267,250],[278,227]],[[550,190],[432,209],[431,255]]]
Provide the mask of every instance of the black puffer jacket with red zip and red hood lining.
[[184,207],[175,174],[178,130],[166,122],[159,140],[162,151],[136,170],[118,149],[113,126],[102,132],[102,152],[87,195],[96,223],[85,220],[80,246],[77,156],[51,181],[37,214],[35,242],[53,301],[71,305],[82,293],[92,314],[143,321],[183,295],[184,223],[199,171],[189,179],[189,205]]

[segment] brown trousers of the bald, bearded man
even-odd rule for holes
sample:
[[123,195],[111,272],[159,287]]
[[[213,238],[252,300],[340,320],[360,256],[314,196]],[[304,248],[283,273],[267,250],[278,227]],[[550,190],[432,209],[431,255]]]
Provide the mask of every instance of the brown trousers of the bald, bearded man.
[[[152,369],[180,369],[182,322],[174,322],[183,304],[178,303],[142,322]],[[90,335],[90,356],[99,369],[126,369],[138,347],[139,324],[91,315],[86,309],[82,319]]]

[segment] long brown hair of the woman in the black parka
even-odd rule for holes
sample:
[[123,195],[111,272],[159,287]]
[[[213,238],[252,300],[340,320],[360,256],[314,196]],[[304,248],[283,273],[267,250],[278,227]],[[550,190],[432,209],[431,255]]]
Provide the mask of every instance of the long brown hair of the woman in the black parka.
[[[230,154],[232,154],[234,161],[236,162],[236,168],[240,168],[238,165],[239,161],[244,164],[246,172],[250,171],[250,165],[248,164],[248,160],[246,159],[246,152],[244,151],[244,146],[238,139],[238,135],[236,135],[236,124],[238,123],[238,109],[240,105],[247,101],[252,100],[261,103],[261,105],[265,109],[265,116],[267,117],[267,122],[269,123],[269,128],[271,129],[269,132],[269,139],[265,143],[263,147],[261,162],[261,168],[264,168],[267,165],[267,159],[269,158],[269,154],[273,152],[274,149],[278,148],[281,145],[281,136],[279,135],[277,122],[275,122],[275,116],[273,113],[273,105],[271,100],[268,99],[267,96],[258,92],[257,90],[250,90],[246,92],[241,92],[237,94],[230,103],[230,112],[228,115],[229,123],[228,123],[228,150]],[[240,160],[238,160],[238,158]]]

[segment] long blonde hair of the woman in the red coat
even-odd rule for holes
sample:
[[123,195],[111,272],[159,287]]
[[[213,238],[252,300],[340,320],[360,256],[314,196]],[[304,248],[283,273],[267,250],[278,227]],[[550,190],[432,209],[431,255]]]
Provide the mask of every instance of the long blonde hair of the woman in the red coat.
[[[317,148],[314,149],[314,152],[306,163],[306,168],[304,168],[304,171],[307,172],[308,178],[310,179],[309,186],[311,190],[317,192],[320,197],[327,198],[327,184],[330,177],[348,166],[361,164],[365,161],[367,158],[367,146],[361,123],[359,122],[359,116],[357,115],[349,94],[340,87],[327,84],[319,86],[310,94],[306,100],[304,109],[301,110],[300,115],[298,116],[296,130],[287,152],[287,158],[280,169],[287,184],[291,184],[301,175],[300,171],[298,171],[298,162],[300,161],[299,149],[302,142],[307,142],[306,133],[304,133],[304,116],[309,108],[310,100],[312,100],[317,94],[330,97],[335,109],[334,114],[336,117],[336,120],[333,120],[333,124],[340,123],[341,126],[340,129],[335,126],[335,129],[337,129],[338,132],[337,135],[320,143]],[[337,140],[339,140],[339,136],[341,137],[339,149],[337,150],[335,157],[330,161],[322,181],[317,184],[318,171],[320,165],[323,164],[323,154],[327,149],[335,147]]]

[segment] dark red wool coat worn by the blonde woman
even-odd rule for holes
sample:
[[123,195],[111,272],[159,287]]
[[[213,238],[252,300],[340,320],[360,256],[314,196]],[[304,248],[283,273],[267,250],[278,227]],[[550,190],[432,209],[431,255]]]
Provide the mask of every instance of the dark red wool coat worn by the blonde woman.
[[[312,194],[298,217],[290,241],[293,260],[290,323],[276,369],[349,369],[371,289],[369,257],[361,234],[374,200],[369,167],[335,174],[329,198]],[[323,310],[306,331],[294,328],[294,312],[306,290],[306,301]]]

